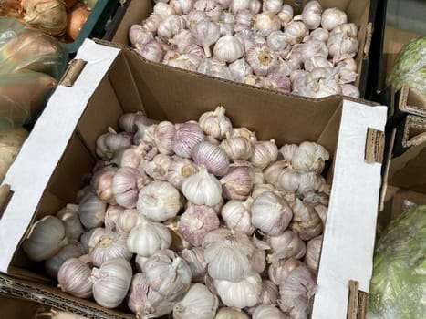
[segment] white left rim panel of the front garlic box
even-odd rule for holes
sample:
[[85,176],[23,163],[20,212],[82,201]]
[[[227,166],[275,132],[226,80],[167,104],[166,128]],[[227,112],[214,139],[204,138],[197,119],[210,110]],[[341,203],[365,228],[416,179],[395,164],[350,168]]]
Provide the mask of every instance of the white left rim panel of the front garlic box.
[[100,46],[91,40],[83,43],[76,58],[88,61],[78,77],[85,80],[77,79],[73,87],[57,87],[8,170],[4,183],[11,186],[14,195],[0,220],[0,272],[7,273],[88,99],[118,54],[118,48]]

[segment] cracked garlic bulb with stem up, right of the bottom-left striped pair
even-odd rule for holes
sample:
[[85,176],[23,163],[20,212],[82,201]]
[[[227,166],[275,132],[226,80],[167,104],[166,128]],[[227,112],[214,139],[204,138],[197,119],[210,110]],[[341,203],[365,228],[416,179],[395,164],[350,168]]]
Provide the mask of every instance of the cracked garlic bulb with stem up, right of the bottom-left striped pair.
[[143,268],[152,290],[169,301],[177,301],[191,285],[188,263],[170,250],[151,255]]

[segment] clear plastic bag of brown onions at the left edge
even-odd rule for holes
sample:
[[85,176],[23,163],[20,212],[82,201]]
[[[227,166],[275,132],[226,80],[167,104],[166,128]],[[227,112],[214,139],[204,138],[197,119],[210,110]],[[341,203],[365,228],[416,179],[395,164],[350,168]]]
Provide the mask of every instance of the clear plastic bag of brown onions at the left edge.
[[36,118],[67,63],[57,39],[0,17],[0,131]]

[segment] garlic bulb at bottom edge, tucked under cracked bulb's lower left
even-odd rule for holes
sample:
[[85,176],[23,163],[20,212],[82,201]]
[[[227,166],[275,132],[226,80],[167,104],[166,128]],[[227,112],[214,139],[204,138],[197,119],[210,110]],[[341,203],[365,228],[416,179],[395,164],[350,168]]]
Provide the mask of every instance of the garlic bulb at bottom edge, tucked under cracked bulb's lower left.
[[133,275],[127,304],[137,318],[157,318],[170,314],[173,309],[173,303],[151,289],[145,273]]

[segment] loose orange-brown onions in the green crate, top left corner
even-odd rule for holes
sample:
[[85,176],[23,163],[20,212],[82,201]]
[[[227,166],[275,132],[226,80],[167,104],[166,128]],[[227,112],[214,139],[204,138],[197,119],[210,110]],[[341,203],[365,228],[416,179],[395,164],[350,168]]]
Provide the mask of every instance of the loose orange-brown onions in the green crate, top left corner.
[[74,41],[98,0],[0,0],[0,16],[19,19],[27,26],[63,42]]

